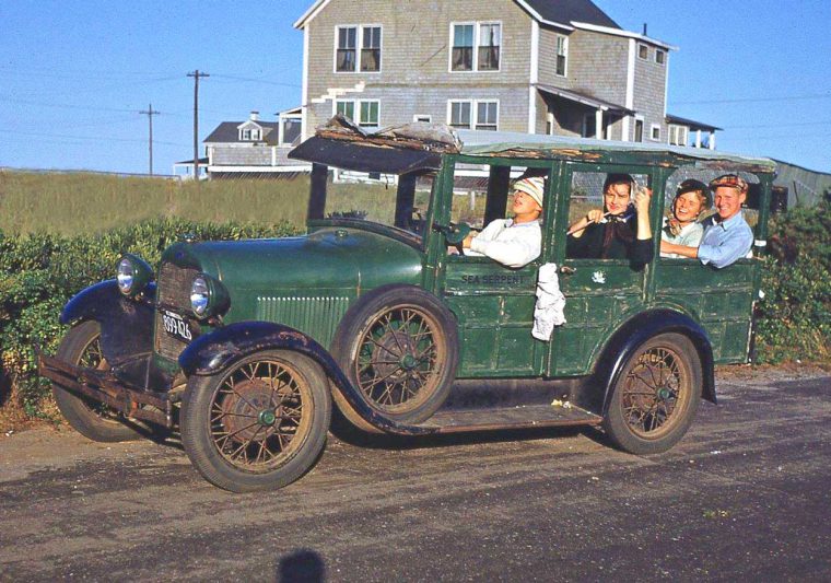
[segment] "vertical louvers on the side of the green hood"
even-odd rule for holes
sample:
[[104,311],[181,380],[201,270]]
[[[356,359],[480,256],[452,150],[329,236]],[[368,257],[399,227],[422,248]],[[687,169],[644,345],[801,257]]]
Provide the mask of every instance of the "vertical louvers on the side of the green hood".
[[349,298],[257,298],[257,319],[285,324],[329,346]]

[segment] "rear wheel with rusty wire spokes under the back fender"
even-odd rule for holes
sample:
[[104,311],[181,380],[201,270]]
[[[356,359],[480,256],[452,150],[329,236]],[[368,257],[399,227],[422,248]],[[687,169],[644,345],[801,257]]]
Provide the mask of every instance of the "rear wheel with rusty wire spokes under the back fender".
[[657,336],[637,349],[616,383],[605,428],[631,453],[657,453],[687,432],[701,399],[701,363],[681,335]]

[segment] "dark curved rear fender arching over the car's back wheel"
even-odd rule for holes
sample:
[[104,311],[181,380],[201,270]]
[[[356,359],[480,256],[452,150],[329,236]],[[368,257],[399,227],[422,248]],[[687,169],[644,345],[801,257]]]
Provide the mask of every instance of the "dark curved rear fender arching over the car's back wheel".
[[627,361],[637,347],[653,336],[666,333],[682,334],[699,352],[702,371],[702,397],[715,404],[715,374],[713,348],[704,329],[690,316],[672,310],[659,308],[639,314],[621,326],[609,339],[595,368],[595,374],[605,387],[602,413],[609,406],[611,388],[618,382]]

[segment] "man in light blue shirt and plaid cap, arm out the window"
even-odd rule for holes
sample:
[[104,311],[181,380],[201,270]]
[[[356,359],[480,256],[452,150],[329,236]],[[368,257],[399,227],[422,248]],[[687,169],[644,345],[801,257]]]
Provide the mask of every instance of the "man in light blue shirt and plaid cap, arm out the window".
[[662,253],[675,253],[701,260],[716,269],[727,267],[747,257],[753,245],[753,231],[741,217],[741,205],[747,199],[747,182],[736,174],[725,174],[710,183],[716,214],[704,222],[704,236],[698,247],[660,242]]

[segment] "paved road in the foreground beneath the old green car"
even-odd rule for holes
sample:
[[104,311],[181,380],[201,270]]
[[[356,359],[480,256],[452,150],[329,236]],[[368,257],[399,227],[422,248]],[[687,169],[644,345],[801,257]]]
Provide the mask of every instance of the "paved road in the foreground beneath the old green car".
[[0,435],[0,581],[829,581],[831,377],[746,376],[663,455],[593,431],[332,439],[267,494],[174,445]]

